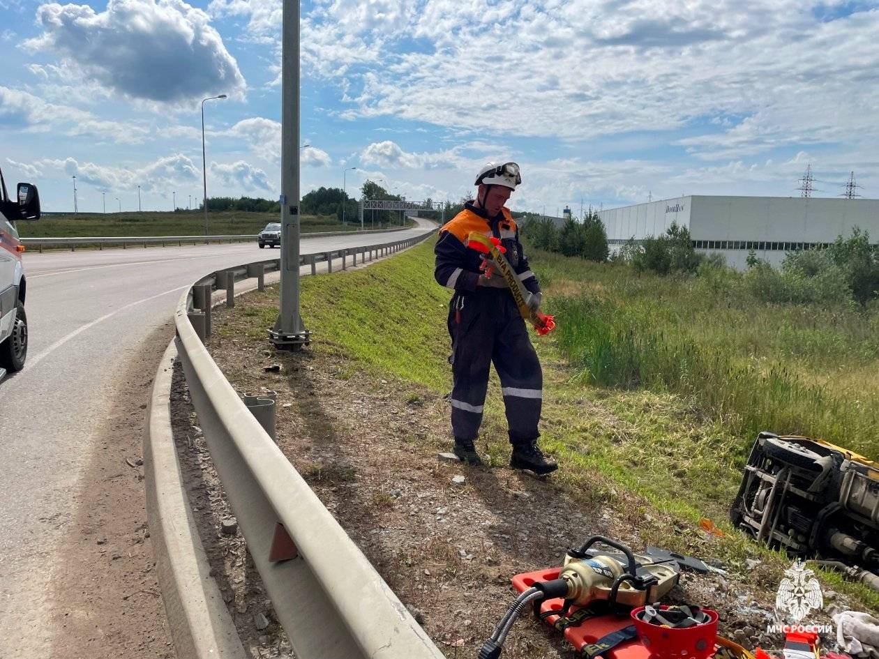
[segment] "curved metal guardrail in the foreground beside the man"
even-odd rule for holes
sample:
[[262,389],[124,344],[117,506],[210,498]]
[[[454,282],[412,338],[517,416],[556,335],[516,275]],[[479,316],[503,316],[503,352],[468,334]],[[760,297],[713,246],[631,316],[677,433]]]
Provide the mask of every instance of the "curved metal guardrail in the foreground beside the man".
[[[435,231],[435,230],[434,230]],[[356,263],[423,242],[306,254],[301,265],[333,257]],[[440,659],[425,631],[367,561],[251,414],[207,352],[211,294],[277,270],[279,259],[243,264],[200,279],[180,299],[175,322],[190,397],[223,489],[280,624],[299,659]],[[196,320],[200,331],[193,326]]]

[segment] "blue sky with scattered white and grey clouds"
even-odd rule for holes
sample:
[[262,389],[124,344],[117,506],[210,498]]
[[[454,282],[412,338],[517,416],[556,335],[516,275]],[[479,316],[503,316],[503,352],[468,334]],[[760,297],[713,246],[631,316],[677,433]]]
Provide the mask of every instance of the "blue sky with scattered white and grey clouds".
[[[788,0],[302,3],[301,185],[511,205],[679,194],[879,197],[879,5]],[[46,210],[277,198],[280,0],[0,0],[0,165]],[[382,184],[384,185],[384,184]],[[103,194],[102,194],[103,193]],[[119,202],[116,199],[119,198]]]

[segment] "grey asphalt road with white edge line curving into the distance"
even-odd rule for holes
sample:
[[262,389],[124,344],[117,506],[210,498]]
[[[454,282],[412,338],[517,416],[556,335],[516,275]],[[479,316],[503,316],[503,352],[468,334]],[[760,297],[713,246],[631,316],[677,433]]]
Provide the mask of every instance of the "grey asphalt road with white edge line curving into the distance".
[[[420,222],[388,235],[304,238],[301,252],[432,227]],[[65,569],[59,547],[83,503],[75,494],[88,485],[95,438],[120,413],[111,409],[120,405],[113,395],[120,369],[149,345],[146,387],[185,286],[222,267],[277,256],[255,243],[25,254],[28,359],[24,371],[0,383],[0,657],[53,656],[53,627],[68,614],[54,588]],[[156,332],[166,336],[157,340]],[[140,403],[123,411],[143,416]]]

